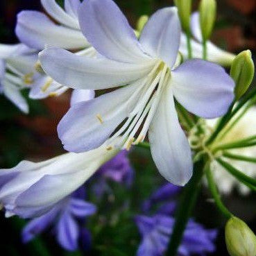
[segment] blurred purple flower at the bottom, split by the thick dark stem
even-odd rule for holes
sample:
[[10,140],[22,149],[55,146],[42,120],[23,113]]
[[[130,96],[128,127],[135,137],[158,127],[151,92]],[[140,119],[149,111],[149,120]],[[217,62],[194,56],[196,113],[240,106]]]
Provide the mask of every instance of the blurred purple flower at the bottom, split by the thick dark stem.
[[[142,236],[137,256],[162,256],[167,250],[175,219],[170,216],[136,216],[135,222]],[[190,220],[178,248],[178,256],[206,255],[215,250],[216,230],[206,230]]]

